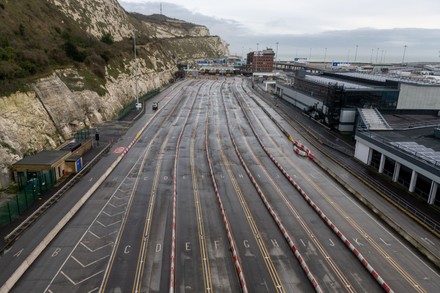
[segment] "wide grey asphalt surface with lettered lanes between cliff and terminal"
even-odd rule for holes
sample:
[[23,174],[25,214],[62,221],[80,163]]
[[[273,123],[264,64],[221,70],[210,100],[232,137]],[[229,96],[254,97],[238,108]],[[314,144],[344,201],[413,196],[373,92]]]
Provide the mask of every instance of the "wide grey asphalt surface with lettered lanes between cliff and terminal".
[[255,99],[237,77],[162,92],[1,256],[0,283],[110,170],[13,292],[437,292],[438,268],[297,155]]

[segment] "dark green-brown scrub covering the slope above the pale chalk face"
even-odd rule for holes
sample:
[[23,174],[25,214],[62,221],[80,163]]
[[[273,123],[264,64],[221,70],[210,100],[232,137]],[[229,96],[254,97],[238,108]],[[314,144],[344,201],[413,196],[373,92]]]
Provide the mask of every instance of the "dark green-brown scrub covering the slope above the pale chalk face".
[[88,35],[48,1],[0,0],[0,23],[0,96],[72,65],[102,84],[105,65],[132,51],[130,40],[116,44],[110,33],[100,40]]

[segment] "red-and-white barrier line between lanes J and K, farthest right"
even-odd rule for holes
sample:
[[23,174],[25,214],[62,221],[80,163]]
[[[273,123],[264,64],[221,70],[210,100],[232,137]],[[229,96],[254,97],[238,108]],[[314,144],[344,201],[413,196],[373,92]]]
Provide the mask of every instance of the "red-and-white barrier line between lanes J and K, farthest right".
[[[241,106],[241,102],[237,99],[238,103]],[[243,107],[241,107],[243,109]],[[242,110],[246,120],[248,121],[255,137],[257,138],[258,142],[260,143],[261,147],[264,149],[266,154],[269,156],[269,158],[272,160],[272,162],[278,167],[278,169],[283,173],[283,175],[289,180],[289,182],[298,190],[298,192],[303,196],[303,198],[307,201],[307,203],[318,213],[318,215],[324,220],[324,222],[332,229],[332,231],[341,239],[341,241],[347,246],[347,248],[357,257],[357,259],[362,263],[362,265],[367,269],[367,271],[373,276],[373,278],[379,283],[379,285],[382,287],[382,289],[387,292],[391,293],[394,292],[391,287],[382,279],[382,277],[379,275],[379,273],[368,263],[366,258],[360,253],[360,251],[348,240],[344,234],[336,227],[335,224],[322,212],[322,210],[313,202],[313,200],[306,194],[304,190],[298,185],[295,180],[287,173],[287,171],[280,165],[280,163],[275,159],[274,156],[269,152],[269,150],[266,148],[266,146],[263,144],[263,141],[260,139],[260,137],[257,135],[253,125],[251,124],[251,121],[247,115],[247,113]]]

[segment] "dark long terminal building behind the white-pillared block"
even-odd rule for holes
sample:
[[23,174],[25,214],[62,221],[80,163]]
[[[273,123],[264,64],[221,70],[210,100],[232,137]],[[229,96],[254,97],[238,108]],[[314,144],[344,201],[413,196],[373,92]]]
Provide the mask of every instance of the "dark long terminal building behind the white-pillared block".
[[440,111],[440,84],[402,81],[372,74],[297,71],[276,94],[332,129],[353,132],[357,108],[380,112]]

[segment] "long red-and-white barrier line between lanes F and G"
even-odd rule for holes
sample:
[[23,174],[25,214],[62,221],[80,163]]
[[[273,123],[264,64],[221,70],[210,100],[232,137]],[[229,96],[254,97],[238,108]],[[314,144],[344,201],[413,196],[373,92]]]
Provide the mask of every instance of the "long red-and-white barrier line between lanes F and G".
[[[209,106],[208,106],[208,109],[209,109]],[[223,224],[225,225],[226,234],[227,234],[228,242],[229,242],[229,247],[232,252],[232,260],[234,262],[235,270],[236,270],[238,278],[240,280],[241,290],[243,291],[243,293],[248,293],[246,279],[244,277],[244,273],[243,273],[243,269],[242,269],[243,266],[241,265],[241,260],[240,260],[239,254],[238,254],[237,246],[235,244],[235,239],[232,235],[231,224],[229,223],[228,216],[226,214],[226,210],[223,206],[223,201],[222,201],[220,193],[218,191],[217,181],[215,180],[214,170],[212,168],[212,162],[211,162],[211,158],[209,155],[209,144],[208,144],[209,110],[207,111],[206,115],[207,115],[207,119],[206,119],[207,122],[206,122],[206,129],[205,129],[205,150],[206,150],[206,157],[208,159],[208,166],[209,166],[209,173],[211,175],[211,182],[212,182],[212,185],[214,186],[215,196],[217,197],[217,201],[220,206],[220,212],[221,212],[221,215],[223,218]]]

